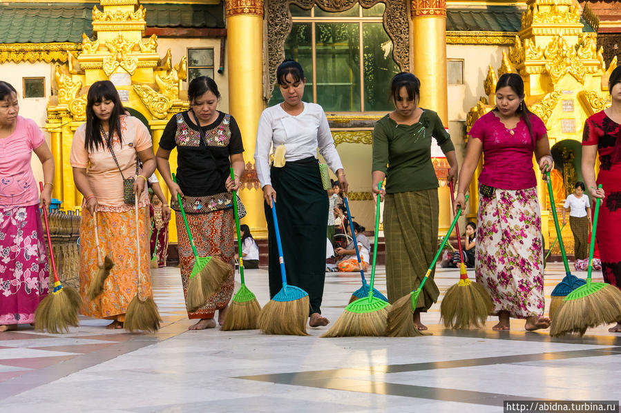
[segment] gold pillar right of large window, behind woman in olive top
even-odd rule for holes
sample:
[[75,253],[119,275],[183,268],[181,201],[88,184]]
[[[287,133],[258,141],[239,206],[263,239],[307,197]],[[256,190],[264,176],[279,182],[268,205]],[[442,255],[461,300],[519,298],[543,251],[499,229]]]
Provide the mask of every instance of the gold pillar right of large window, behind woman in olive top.
[[[446,80],[446,0],[412,0],[412,66],[421,81],[419,106],[437,112],[448,127]],[[439,231],[452,220],[448,185],[438,190]]]

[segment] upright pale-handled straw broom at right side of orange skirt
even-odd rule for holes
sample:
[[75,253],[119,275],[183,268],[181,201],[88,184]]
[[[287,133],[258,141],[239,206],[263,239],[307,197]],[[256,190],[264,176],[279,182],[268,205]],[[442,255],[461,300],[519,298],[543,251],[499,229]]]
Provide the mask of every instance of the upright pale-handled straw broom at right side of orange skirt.
[[128,332],[148,331],[156,332],[160,328],[160,313],[157,312],[157,305],[153,297],[149,296],[142,299],[142,282],[140,281],[140,219],[138,217],[138,199],[140,194],[135,195],[136,210],[136,296],[129,302],[125,314],[124,328]]

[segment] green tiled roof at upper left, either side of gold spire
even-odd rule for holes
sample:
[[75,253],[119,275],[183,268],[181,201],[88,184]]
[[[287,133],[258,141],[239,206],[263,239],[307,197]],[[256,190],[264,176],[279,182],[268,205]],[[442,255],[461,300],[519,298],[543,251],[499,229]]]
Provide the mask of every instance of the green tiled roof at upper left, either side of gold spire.
[[[93,6],[95,3],[0,3],[0,43],[82,41],[82,33],[93,34]],[[142,6],[149,28],[224,28],[222,3]]]

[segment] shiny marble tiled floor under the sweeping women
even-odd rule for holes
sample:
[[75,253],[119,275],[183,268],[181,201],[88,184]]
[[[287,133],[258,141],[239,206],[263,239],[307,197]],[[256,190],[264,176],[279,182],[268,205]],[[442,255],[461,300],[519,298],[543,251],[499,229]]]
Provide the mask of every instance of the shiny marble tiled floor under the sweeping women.
[[[423,314],[433,335],[411,339],[193,332],[178,271],[153,271],[157,334],[86,318],[69,334],[0,333],[0,412],[501,412],[504,400],[621,398],[621,334],[603,326],[562,339],[524,332],[524,321],[452,331],[434,305]],[[267,272],[246,273],[265,304]],[[442,294],[458,276],[438,269]],[[548,302],[562,276],[562,264],[548,265]],[[327,274],[325,316],[335,321],[358,285],[356,274]]]

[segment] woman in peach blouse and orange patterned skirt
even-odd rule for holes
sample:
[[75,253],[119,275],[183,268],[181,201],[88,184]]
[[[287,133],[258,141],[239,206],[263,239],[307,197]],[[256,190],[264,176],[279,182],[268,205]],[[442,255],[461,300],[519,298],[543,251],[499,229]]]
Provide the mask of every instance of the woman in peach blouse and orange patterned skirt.
[[[142,170],[137,170],[138,159],[143,163]],[[123,328],[127,305],[136,295],[136,272],[142,285],[140,298],[151,296],[151,225],[146,177],[155,171],[155,155],[149,130],[139,119],[125,115],[111,81],[98,81],[90,86],[86,123],[73,135],[70,163],[75,185],[84,195],[79,263],[80,294],[86,303],[84,314],[113,320],[108,328]],[[140,268],[137,268],[135,205],[125,203],[123,198],[123,179],[129,177],[135,178],[133,192],[140,197]],[[114,267],[104,283],[104,292],[88,301],[86,292],[97,272],[95,225],[102,254],[111,257]]]

